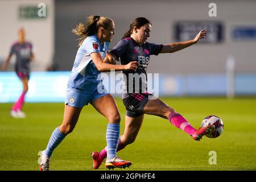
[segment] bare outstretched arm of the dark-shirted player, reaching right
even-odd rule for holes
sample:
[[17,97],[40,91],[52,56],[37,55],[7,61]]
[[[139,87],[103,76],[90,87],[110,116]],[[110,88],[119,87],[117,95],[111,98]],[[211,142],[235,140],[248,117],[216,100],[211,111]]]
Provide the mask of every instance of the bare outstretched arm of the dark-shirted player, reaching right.
[[207,35],[207,32],[205,30],[201,30],[199,34],[197,34],[196,37],[192,40],[163,45],[162,51],[160,53],[172,53],[172,52],[180,51],[181,49],[184,49],[186,47],[192,46],[193,44],[196,44],[197,42],[199,42],[200,39],[203,39],[206,35]]

